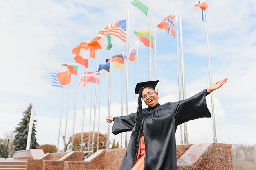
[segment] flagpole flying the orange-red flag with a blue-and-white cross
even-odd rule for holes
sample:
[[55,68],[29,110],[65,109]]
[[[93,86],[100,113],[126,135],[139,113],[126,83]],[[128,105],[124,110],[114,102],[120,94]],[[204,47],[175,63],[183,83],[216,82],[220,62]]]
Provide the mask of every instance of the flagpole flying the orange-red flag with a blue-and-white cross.
[[[178,86],[179,86],[179,100],[181,100],[181,92],[180,92],[180,54],[179,54],[179,29],[178,29],[178,21],[177,21],[177,14],[175,13],[176,18],[176,42],[177,42],[177,70],[178,70]],[[180,124],[180,144],[183,145],[183,131],[182,131],[182,124]]]

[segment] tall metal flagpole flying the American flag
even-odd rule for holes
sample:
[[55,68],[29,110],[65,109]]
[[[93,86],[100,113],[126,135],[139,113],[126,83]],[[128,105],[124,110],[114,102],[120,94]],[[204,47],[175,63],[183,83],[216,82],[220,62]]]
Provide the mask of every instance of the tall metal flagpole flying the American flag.
[[[129,15],[130,10],[126,10],[127,12],[127,30],[126,30],[126,39],[127,39],[127,73],[126,73],[126,116],[128,115],[128,83],[129,83]],[[127,132],[125,133],[124,147],[127,148]]]

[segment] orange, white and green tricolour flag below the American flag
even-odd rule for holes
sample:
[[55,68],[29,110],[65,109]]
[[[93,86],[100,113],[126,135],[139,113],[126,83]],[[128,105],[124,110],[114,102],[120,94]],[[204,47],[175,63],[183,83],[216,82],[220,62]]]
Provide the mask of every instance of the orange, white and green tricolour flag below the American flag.
[[94,39],[92,39],[92,41],[87,43],[87,47],[90,48],[91,50],[98,50],[98,49],[110,50],[112,48],[111,37],[110,35],[100,34]]

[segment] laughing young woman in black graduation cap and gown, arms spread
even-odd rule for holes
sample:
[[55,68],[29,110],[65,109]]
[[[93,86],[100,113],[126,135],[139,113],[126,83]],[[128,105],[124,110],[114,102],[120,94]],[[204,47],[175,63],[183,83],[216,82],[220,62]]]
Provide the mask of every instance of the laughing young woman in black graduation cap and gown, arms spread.
[[[211,117],[205,96],[220,88],[227,78],[188,99],[160,105],[155,92],[157,81],[137,83],[138,111],[114,121],[112,133],[132,131],[120,170],[176,170],[175,132],[177,126],[198,118]],[[142,100],[148,108],[142,109]]]

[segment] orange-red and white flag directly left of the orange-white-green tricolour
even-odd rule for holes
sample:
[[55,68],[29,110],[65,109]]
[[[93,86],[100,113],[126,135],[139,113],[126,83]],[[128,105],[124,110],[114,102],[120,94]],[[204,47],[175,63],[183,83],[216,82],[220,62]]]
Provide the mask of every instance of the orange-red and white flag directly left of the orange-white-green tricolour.
[[80,44],[78,46],[76,46],[73,50],[72,50],[72,54],[75,54],[76,56],[74,57],[74,60],[76,63],[79,63],[83,66],[85,66],[85,68],[88,67],[88,56],[90,56],[90,51],[89,50],[85,50]]

